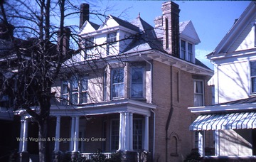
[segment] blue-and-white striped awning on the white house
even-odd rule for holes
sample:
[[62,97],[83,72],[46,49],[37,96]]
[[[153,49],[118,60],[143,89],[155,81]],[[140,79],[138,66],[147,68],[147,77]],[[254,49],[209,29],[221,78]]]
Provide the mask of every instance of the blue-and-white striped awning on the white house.
[[191,131],[225,130],[225,129],[255,129],[256,112],[236,112],[229,114],[203,114],[191,126]]

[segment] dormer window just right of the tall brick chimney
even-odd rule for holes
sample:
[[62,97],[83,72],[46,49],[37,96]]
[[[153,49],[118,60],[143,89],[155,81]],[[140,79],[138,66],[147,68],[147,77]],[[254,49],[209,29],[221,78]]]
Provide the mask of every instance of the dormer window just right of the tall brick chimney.
[[193,62],[193,44],[181,40],[180,58],[183,60],[187,60],[191,63]]

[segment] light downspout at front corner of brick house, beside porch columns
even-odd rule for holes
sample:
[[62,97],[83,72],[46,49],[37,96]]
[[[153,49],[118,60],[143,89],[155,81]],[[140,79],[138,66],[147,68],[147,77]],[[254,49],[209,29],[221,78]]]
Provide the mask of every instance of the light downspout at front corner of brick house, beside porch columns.
[[[142,58],[146,63],[149,63],[150,65],[150,72],[151,72],[151,78],[150,78],[150,100],[149,103],[153,103],[153,65],[148,60],[142,57],[142,54],[139,53],[139,57]],[[155,151],[155,134],[156,134],[156,114],[153,109],[151,109],[151,112],[154,114],[154,124],[153,124],[153,150],[152,150],[152,158],[154,159],[154,151]]]

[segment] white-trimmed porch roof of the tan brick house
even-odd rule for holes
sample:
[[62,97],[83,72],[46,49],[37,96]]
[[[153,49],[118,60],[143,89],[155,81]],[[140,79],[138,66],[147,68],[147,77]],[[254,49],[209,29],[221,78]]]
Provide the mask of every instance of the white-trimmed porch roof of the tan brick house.
[[[34,108],[36,109],[36,107]],[[100,102],[85,105],[68,105],[50,107],[50,116],[75,117],[97,114],[113,114],[120,112],[132,112],[150,117],[151,109],[156,109],[156,105],[133,99],[118,99],[110,102]],[[15,114],[28,116],[25,110],[16,111]]]

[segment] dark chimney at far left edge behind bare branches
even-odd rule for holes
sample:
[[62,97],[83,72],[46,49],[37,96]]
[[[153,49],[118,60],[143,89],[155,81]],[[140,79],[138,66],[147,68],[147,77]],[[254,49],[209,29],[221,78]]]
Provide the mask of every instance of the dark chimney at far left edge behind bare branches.
[[0,23],[0,39],[11,41],[14,38],[14,26],[9,23]]

